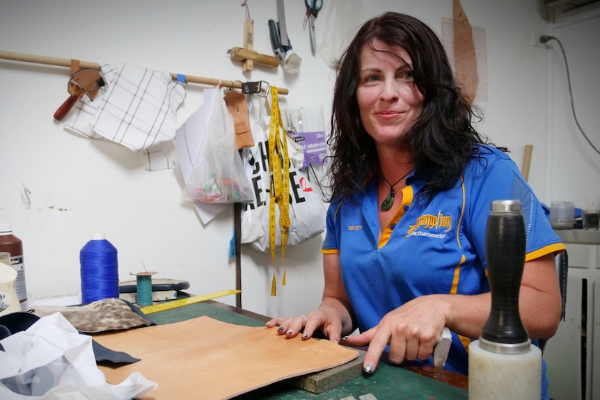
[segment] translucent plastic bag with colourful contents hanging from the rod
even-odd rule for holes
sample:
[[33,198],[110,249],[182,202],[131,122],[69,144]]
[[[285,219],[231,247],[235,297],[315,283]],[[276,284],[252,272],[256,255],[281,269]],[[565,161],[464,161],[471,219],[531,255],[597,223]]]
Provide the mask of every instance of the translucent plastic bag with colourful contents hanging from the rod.
[[186,178],[182,198],[216,203],[251,202],[254,198],[235,145],[233,117],[227,110],[223,90],[212,96],[211,101],[214,104],[206,138]]

